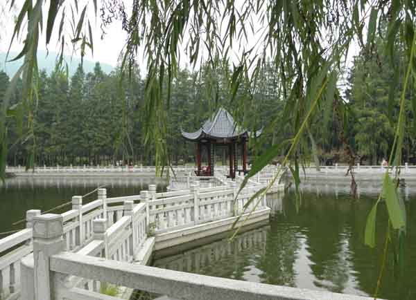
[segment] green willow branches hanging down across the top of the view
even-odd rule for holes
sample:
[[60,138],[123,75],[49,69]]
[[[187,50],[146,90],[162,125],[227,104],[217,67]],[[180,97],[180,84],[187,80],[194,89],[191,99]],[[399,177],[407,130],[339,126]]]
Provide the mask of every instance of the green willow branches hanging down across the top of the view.
[[[21,38],[24,46],[21,53],[11,59],[24,57],[24,63],[10,86],[16,78],[22,77],[23,97],[19,105],[24,107],[21,111],[27,115],[28,139],[35,145],[32,129],[33,109],[37,103],[37,47],[40,43],[48,45],[58,41],[61,45],[60,62],[67,44],[73,45],[82,57],[87,50],[93,52],[90,19],[98,15],[98,4],[96,0],[22,2],[11,43]],[[259,71],[269,59],[279,74],[279,88],[284,99],[283,117],[270,120],[270,126],[279,129],[289,124],[294,134],[263,152],[254,161],[246,178],[253,176],[284,148],[283,165],[290,167],[298,183],[300,164],[316,149],[311,126],[325,126],[322,120],[314,122],[318,118],[317,111],[322,110],[327,112],[322,118],[324,122],[333,122],[329,114],[333,112],[333,118],[341,129],[340,140],[345,142],[344,147],[351,157],[350,174],[354,174],[355,154],[343,138],[342,130],[349,121],[350,107],[337,84],[352,44],[358,43],[365,49],[365,55],[371,57],[376,36],[386,40],[385,51],[391,62],[398,45],[406,53],[401,97],[389,99],[390,104],[397,102],[400,107],[389,165],[400,164],[407,118],[404,111],[410,105],[405,102],[404,94],[413,88],[409,86],[409,78],[416,76],[415,6],[412,0],[132,0],[132,6],[127,8],[122,0],[103,0],[99,15],[103,28],[110,26],[114,19],[121,19],[122,30],[127,33],[120,82],[128,77],[137,55],[144,53],[147,59],[144,142],[153,144],[158,166],[169,164],[166,120],[169,117],[171,82],[177,75],[180,62],[185,61],[196,68],[202,63],[213,69],[218,64],[232,66],[227,88],[237,102],[236,111],[241,112],[241,106],[247,102],[240,104],[236,100],[240,84],[244,82],[245,93],[255,95]],[[46,24],[42,24],[44,15],[47,15]],[[388,24],[387,32],[380,30],[380,24]],[[46,40],[40,39],[42,30],[46,32]],[[395,64],[391,67],[397,69]],[[395,76],[393,79],[398,78]],[[164,84],[166,80],[167,85]],[[125,101],[123,93],[121,100]],[[210,107],[215,109],[216,102],[212,102]],[[416,104],[411,105],[415,113]],[[6,97],[0,118],[1,176],[4,176],[6,160],[5,119],[8,110]],[[395,176],[396,182],[398,178],[399,173]],[[389,232],[403,229],[405,223],[395,184],[386,173],[381,195],[387,203]],[[374,245],[376,207],[380,200],[381,196],[368,218],[366,243],[369,245]],[[386,247],[389,241],[386,236]]]

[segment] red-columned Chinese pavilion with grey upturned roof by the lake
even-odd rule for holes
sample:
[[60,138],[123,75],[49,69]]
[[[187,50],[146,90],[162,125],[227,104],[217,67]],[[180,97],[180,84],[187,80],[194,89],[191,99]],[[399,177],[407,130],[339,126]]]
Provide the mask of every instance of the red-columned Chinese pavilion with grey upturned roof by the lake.
[[[261,129],[250,133],[234,122],[232,115],[223,108],[204,124],[198,131],[189,133],[182,131],[182,136],[187,140],[196,142],[196,175],[214,176],[214,165],[216,163],[216,151],[227,149],[229,157],[229,178],[236,177],[236,171],[246,174],[247,169],[247,142],[252,136],[259,136]],[[239,157],[241,158],[241,169],[239,169]],[[207,162],[202,167],[202,160]]]

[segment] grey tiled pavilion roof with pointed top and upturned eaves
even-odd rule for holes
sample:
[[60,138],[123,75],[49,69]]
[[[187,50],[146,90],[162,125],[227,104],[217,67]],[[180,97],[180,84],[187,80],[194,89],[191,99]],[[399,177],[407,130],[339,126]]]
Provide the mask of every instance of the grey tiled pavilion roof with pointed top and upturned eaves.
[[[247,129],[238,126],[232,115],[222,107],[213,117],[205,121],[202,127],[195,132],[182,131],[182,136],[188,140],[200,140],[202,138],[237,138],[239,136],[248,138],[251,135]],[[259,136],[261,129],[255,131],[254,134]]]

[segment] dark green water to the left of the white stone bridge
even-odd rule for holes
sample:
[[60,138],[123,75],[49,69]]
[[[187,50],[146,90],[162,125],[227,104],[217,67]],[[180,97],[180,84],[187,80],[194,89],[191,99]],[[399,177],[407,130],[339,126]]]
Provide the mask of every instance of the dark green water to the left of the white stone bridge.
[[[62,203],[71,201],[72,196],[83,196],[89,191],[105,185],[107,198],[137,195],[149,184],[157,184],[162,190],[166,184],[156,178],[139,177],[17,177],[0,182],[0,232],[19,229],[24,223],[12,225],[25,218],[26,210],[41,209],[42,212]],[[83,203],[96,200],[97,193],[88,196]],[[71,205],[53,211],[61,213],[71,209]],[[0,238],[3,238],[0,236]]]

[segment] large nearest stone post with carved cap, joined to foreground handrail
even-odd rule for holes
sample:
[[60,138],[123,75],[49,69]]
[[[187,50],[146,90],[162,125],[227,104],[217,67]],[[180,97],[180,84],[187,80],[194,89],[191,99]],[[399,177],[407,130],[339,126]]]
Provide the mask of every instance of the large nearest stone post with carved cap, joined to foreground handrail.
[[49,259],[64,250],[63,229],[63,218],[60,214],[44,214],[33,218],[35,300],[55,298],[51,294],[53,287]]

